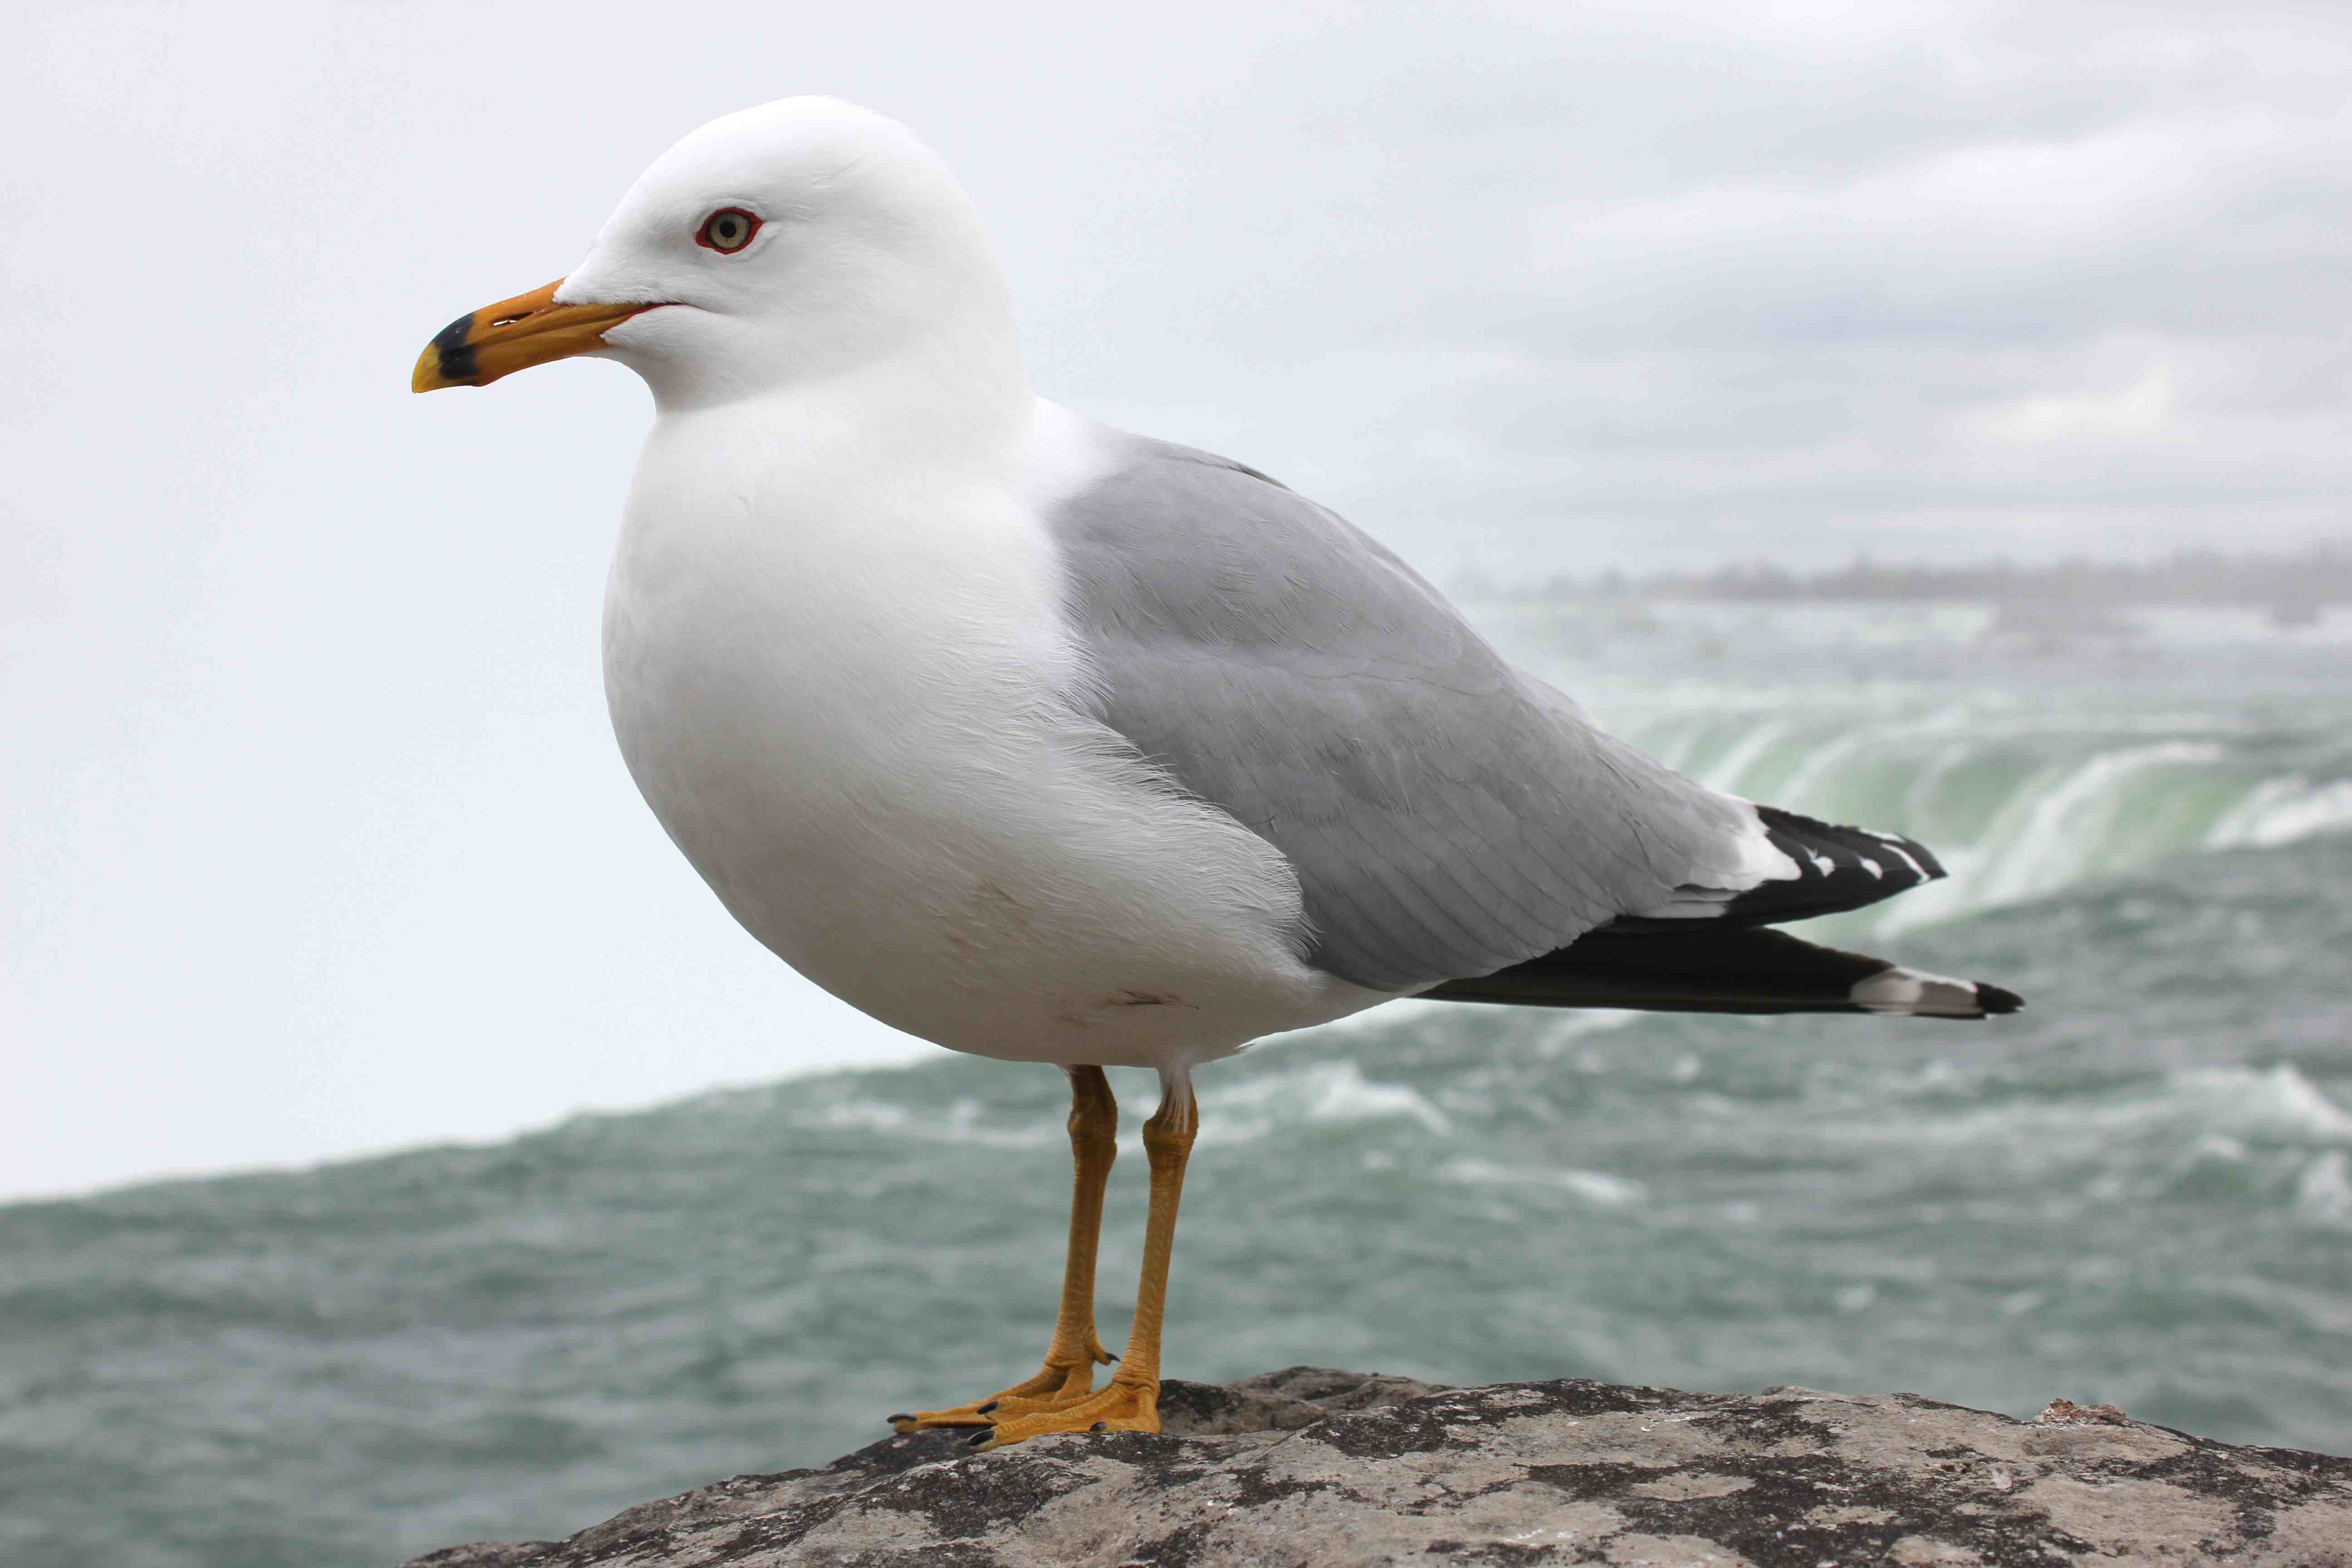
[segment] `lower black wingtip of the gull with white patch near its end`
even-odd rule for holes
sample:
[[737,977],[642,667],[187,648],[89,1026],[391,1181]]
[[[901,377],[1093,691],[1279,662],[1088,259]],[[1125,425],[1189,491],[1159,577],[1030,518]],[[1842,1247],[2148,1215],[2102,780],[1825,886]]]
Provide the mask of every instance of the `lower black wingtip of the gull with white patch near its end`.
[[[1672,926],[1672,929],[1670,929]],[[1987,1018],[2025,1001],[1983,980],[1947,980],[1816,947],[1785,931],[1658,922],[1588,931],[1541,959],[1421,992],[1437,1001],[1628,1006],[1653,1013],[1910,1013]]]

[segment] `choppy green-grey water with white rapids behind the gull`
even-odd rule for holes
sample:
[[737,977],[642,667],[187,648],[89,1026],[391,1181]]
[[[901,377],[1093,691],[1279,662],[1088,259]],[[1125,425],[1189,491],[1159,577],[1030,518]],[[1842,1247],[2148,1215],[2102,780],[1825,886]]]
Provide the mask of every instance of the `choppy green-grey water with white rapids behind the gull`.
[[[1828,933],[2030,1011],[1272,1041],[1202,1081],[1171,1375],[2065,1394],[2352,1453],[2347,628],[1484,618],[1710,783],[1936,844],[1952,884]],[[1112,1079],[1105,1338],[1152,1095]],[[823,1462],[1035,1366],[1061,1114],[1051,1070],[941,1056],[0,1208],[0,1561],[358,1568]]]

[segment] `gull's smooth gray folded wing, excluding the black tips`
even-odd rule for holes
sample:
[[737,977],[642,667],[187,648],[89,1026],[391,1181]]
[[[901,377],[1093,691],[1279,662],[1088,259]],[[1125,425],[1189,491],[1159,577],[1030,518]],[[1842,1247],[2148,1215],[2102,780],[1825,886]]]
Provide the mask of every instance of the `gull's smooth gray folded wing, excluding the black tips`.
[[1115,440],[1049,512],[1101,717],[1289,858],[1310,964],[1416,990],[1757,882],[1752,809],[1592,729],[1369,536]]

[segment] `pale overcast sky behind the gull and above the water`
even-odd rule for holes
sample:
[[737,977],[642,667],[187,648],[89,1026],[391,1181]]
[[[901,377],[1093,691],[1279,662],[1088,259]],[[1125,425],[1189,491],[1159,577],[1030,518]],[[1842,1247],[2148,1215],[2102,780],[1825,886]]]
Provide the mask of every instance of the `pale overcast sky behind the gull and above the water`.
[[1439,578],[2343,529],[2340,2],[16,16],[0,1194],[927,1051],[621,771],[640,383],[407,393],[764,99],[948,155],[1040,390]]

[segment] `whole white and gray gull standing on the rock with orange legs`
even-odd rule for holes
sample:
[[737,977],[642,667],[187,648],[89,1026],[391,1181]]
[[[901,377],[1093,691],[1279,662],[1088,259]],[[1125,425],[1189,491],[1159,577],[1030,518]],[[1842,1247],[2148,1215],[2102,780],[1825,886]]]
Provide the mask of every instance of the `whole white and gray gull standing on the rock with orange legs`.
[[[1651,762],[1315,501],[1037,397],[971,200],[894,120],[818,96],[713,120],[412,386],[574,355],[654,393],[604,693],[663,830],[835,997],[1070,1079],[1044,1363],[898,1432],[1160,1429],[1192,1072],[1265,1034],[1397,997],[2020,1006],[1773,929],[1940,877],[1922,844]],[[1094,1326],[1103,1067],[1160,1074],[1120,1356]]]

